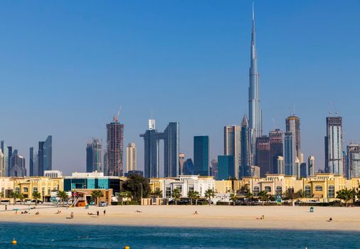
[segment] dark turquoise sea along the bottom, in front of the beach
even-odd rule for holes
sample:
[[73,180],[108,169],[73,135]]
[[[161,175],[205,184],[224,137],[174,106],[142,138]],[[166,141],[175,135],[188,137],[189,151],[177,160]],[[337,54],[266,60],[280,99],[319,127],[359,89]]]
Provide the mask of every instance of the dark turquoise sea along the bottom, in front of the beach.
[[360,248],[360,233],[338,231],[28,223],[0,223],[0,231],[0,248]]

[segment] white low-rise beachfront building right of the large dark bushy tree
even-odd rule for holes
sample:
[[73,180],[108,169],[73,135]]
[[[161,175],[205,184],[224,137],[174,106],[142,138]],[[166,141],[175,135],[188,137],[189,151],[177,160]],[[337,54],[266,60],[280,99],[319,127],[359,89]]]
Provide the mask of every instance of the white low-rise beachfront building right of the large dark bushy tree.
[[201,197],[205,196],[208,189],[215,191],[213,176],[181,175],[171,178],[152,178],[150,187],[152,191],[161,190],[162,198],[171,198],[174,189],[179,189],[181,196],[187,197],[189,191],[198,191]]

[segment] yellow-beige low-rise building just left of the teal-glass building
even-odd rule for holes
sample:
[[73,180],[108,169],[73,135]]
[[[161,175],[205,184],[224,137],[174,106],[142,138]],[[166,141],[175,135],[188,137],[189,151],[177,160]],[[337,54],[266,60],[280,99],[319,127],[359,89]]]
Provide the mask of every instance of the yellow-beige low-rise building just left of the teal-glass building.
[[63,178],[50,178],[46,176],[14,177],[14,191],[23,194],[26,199],[33,198],[33,192],[41,194],[42,201],[50,201],[51,192],[63,191]]

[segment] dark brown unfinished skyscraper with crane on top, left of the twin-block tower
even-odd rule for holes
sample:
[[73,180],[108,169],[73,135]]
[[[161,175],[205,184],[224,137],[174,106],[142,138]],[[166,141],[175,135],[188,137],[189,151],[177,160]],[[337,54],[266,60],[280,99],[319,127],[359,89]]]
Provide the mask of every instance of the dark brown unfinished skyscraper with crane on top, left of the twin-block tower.
[[107,176],[122,176],[124,171],[124,124],[115,115],[107,128]]

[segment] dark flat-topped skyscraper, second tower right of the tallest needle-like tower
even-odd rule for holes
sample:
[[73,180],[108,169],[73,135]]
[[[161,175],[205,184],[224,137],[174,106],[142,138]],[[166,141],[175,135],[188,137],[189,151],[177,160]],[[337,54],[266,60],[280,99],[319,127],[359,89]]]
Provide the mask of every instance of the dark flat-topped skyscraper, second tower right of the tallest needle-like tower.
[[[284,156],[284,133],[280,129],[275,129],[275,131],[269,132],[270,137],[270,169],[272,173],[280,174],[277,171],[277,158]],[[284,174],[283,171],[281,174]]]

